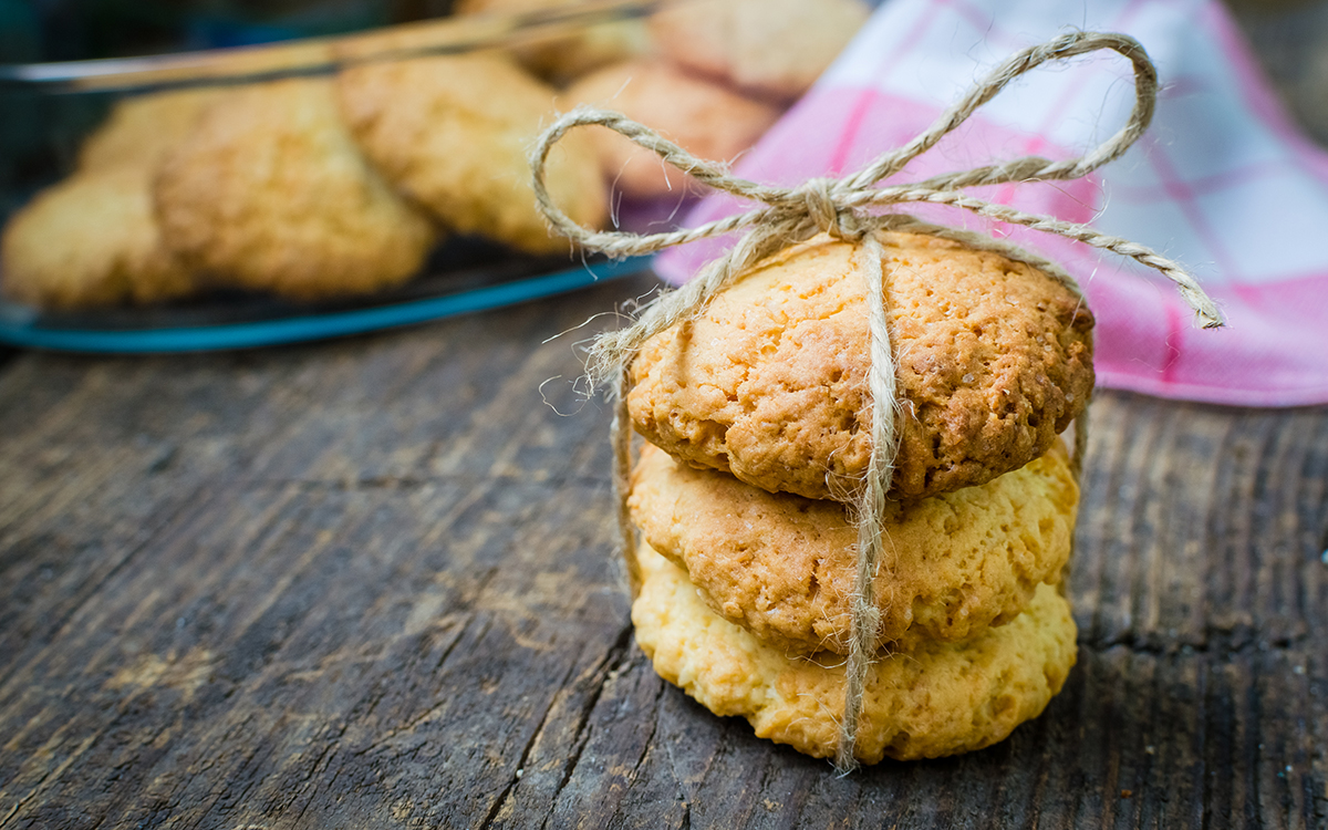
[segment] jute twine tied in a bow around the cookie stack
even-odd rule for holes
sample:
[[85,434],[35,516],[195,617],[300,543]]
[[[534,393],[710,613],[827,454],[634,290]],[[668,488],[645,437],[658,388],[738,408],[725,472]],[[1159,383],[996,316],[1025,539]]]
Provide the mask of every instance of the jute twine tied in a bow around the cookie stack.
[[[1052,60],[1110,49],[1130,60],[1134,66],[1134,109],[1129,122],[1104,143],[1080,158],[1053,162],[1038,157],[1019,158],[1003,165],[936,175],[922,182],[878,187],[882,179],[898,173],[910,161],[936,145],[947,133],[963,124],[979,106],[989,101],[1011,81]],[[867,671],[875,655],[879,608],[874,596],[875,576],[880,562],[882,514],[886,493],[894,474],[899,448],[899,396],[895,388],[895,361],[890,341],[890,324],[884,308],[882,262],[884,248],[879,231],[910,231],[954,239],[969,247],[997,251],[1028,263],[1072,291],[1080,300],[1084,293],[1074,279],[1058,266],[1024,251],[1008,242],[984,234],[920,222],[899,212],[871,212],[891,205],[910,202],[952,205],[981,216],[1057,234],[1085,244],[1113,251],[1155,268],[1171,280],[1186,303],[1194,308],[1204,328],[1222,325],[1222,315],[1193,276],[1177,262],[1157,252],[1090,226],[1061,222],[1049,216],[1027,214],[1004,205],[992,205],[961,193],[964,187],[1007,182],[1065,181],[1084,177],[1118,158],[1147,129],[1157,100],[1157,70],[1134,39],[1125,35],[1072,32],[1042,45],[1025,49],[979,82],[957,104],[943,113],[931,127],[911,142],[882,154],[870,165],[841,179],[815,178],[798,187],[774,187],[730,175],[720,163],[697,158],[657,133],[627,117],[598,109],[576,109],[559,118],[540,135],[531,151],[535,198],[554,227],[583,248],[610,256],[635,256],[718,236],[736,230],[746,232],[724,255],[708,263],[696,279],[681,288],[661,293],[644,305],[635,321],[619,331],[607,332],[590,347],[587,374],[592,385],[611,384],[614,400],[614,483],[619,503],[622,554],[633,595],[640,588],[636,563],[636,531],[627,510],[632,467],[631,421],[627,410],[628,368],[640,347],[651,336],[671,325],[695,320],[710,297],[724,291],[737,275],[784,247],[826,232],[858,244],[855,260],[865,279],[869,328],[871,333],[867,384],[871,397],[871,456],[857,495],[858,547],[854,588],[850,598],[849,659],[845,677],[845,708],[841,721],[835,765],[850,770],[857,765],[854,745],[862,716]],[[622,133],[637,145],[716,190],[762,203],[745,212],[718,219],[695,228],[664,234],[636,235],[596,231],[572,222],[548,195],[544,186],[544,163],[555,143],[578,126],[600,125]],[[1088,438],[1086,417],[1076,424],[1074,469],[1082,463]]]

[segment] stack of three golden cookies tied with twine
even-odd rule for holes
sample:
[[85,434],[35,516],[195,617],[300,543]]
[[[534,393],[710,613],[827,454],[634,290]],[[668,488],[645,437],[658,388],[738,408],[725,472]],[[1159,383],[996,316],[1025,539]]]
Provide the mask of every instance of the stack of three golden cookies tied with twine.
[[[1093,317],[1020,262],[882,232],[900,448],[859,761],[987,746],[1074,664],[1060,591],[1078,487],[1058,433],[1093,388]],[[870,458],[859,258],[827,236],[744,274],[643,347],[628,408],[648,444],[636,639],[656,671],[760,737],[835,754]]]

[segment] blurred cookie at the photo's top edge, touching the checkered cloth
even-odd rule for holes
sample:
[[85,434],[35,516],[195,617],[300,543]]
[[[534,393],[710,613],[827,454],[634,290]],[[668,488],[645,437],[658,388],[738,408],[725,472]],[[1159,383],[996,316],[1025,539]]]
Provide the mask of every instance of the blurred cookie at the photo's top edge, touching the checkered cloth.
[[867,16],[861,0],[709,0],[661,9],[651,35],[692,72],[788,101],[821,77]]

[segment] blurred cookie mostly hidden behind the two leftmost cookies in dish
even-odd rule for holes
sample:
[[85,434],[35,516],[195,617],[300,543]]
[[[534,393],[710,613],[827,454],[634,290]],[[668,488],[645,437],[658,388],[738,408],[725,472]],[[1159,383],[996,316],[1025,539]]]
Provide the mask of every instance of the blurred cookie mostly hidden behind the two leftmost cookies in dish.
[[154,167],[222,94],[215,88],[183,89],[120,101],[78,149],[78,170]]

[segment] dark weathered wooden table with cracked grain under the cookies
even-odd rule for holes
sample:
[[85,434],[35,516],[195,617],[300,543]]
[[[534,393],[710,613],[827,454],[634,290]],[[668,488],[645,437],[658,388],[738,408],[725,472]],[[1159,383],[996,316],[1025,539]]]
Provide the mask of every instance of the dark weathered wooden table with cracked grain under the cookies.
[[1100,394],[1065,691],[839,778],[632,641],[584,332],[546,339],[649,286],[11,357],[0,827],[1328,826],[1328,410]]

